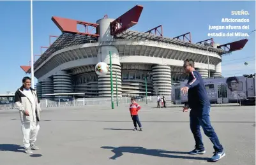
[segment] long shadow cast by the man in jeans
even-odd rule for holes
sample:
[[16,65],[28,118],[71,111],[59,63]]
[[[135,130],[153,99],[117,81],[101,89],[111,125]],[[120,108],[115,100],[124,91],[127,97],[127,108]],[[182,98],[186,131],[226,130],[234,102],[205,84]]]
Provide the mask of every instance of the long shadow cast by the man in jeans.
[[117,157],[121,157],[124,152],[133,153],[133,154],[144,154],[151,155],[156,157],[169,157],[169,158],[178,158],[178,159],[195,159],[195,160],[204,160],[208,161],[206,157],[190,157],[190,156],[181,156],[181,155],[170,155],[170,154],[188,154],[188,152],[178,152],[178,151],[167,151],[167,150],[156,150],[156,149],[147,149],[144,147],[109,147],[104,146],[104,149],[112,149],[115,155],[109,157],[109,159],[115,160]]

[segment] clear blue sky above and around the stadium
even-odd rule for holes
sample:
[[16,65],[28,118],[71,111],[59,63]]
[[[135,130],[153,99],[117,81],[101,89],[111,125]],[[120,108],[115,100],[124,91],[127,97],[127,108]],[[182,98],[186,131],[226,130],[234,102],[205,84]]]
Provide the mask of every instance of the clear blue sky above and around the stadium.
[[[208,33],[228,31],[209,30],[209,25],[249,25],[250,28],[230,32],[255,30],[255,1],[34,1],[34,54],[40,54],[41,46],[49,46],[50,35],[61,34],[52,22],[52,16],[93,23],[105,14],[117,18],[137,4],[144,9],[139,23],[131,28],[135,31],[146,32],[162,25],[163,36],[173,38],[191,32],[192,43],[196,43],[211,38]],[[231,15],[231,11],[241,10],[250,15]],[[0,15],[0,94],[6,94],[6,91],[15,92],[22,85],[22,78],[30,76],[20,68],[28,66],[31,57],[30,1],[0,1]],[[250,22],[227,23],[222,22],[222,18],[248,18]],[[226,36],[213,39],[222,45],[244,38]],[[243,50],[222,57],[222,76],[255,73],[255,32],[248,39]],[[245,62],[249,65],[245,66]]]

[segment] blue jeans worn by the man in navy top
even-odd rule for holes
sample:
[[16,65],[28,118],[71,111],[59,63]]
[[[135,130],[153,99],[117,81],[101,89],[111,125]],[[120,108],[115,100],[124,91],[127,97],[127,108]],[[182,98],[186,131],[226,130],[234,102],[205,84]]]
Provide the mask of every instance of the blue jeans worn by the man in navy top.
[[204,134],[213,143],[213,148],[216,152],[222,152],[223,147],[218,140],[218,136],[215,133],[215,130],[211,126],[210,117],[209,117],[210,106],[204,106],[202,108],[193,109],[190,111],[190,129],[195,138],[195,147],[197,149],[204,150],[204,144],[202,143],[202,135],[200,133],[200,126],[204,130]]

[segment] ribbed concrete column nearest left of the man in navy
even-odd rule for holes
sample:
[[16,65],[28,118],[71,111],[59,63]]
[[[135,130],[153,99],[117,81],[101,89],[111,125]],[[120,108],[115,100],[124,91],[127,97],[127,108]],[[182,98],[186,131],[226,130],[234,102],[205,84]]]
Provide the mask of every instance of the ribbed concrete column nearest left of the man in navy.
[[171,96],[172,78],[170,66],[158,64],[152,67],[154,95]]

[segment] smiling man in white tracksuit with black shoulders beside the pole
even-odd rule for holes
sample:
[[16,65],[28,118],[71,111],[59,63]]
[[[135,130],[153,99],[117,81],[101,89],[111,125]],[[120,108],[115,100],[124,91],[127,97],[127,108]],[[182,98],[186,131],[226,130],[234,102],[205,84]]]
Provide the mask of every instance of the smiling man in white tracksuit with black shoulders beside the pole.
[[39,150],[34,144],[40,129],[40,101],[36,91],[31,88],[31,78],[22,79],[22,87],[15,92],[15,108],[19,110],[25,152],[32,154],[32,150]]

